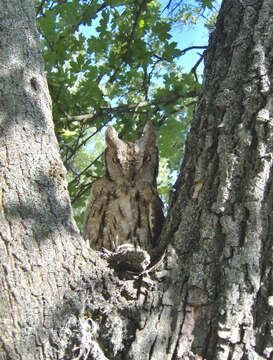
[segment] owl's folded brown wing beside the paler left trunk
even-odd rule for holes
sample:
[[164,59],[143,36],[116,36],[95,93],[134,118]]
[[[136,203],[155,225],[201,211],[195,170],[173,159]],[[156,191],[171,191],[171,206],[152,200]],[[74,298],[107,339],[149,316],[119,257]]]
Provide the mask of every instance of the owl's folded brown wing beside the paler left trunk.
[[84,215],[83,236],[92,248],[100,249],[111,182],[102,178],[94,182]]

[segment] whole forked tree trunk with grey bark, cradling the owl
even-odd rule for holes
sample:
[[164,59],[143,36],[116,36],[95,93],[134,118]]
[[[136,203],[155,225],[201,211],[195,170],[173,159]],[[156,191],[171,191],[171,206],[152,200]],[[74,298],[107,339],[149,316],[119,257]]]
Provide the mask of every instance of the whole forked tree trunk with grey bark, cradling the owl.
[[120,280],[73,222],[31,1],[2,0],[1,360],[273,358],[272,9],[223,1],[164,264]]

